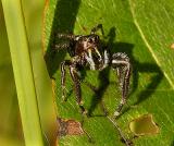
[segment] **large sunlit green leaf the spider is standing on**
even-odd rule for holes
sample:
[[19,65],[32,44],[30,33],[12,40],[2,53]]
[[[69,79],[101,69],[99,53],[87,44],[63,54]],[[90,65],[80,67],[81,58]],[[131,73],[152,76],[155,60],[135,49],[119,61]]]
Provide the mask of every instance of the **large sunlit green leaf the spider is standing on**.
[[[54,44],[60,42],[57,33],[89,34],[97,24],[103,25],[112,52],[125,52],[133,64],[130,92],[127,105],[117,122],[121,130],[129,138],[128,129],[132,120],[150,113],[159,125],[157,135],[133,138],[135,145],[154,146],[173,144],[173,94],[174,94],[174,50],[173,44],[174,2],[172,0],[59,0],[50,1],[46,15],[46,61],[49,74],[55,77],[55,97],[58,117],[62,119],[82,120],[79,108],[75,101],[73,83],[67,73],[66,88],[70,90],[67,101],[62,102],[60,86],[60,62],[65,51],[50,53]],[[103,72],[87,71],[85,81],[98,87],[95,94],[82,83],[85,108],[92,112],[85,118],[84,130],[94,138],[95,145],[123,145],[114,124],[103,115],[100,102],[103,100],[109,117],[112,118],[120,102],[121,94],[117,78],[112,70]],[[108,84],[109,82],[109,84]],[[100,115],[100,117],[99,117]],[[66,135],[60,137],[60,145],[90,145],[87,136]]]

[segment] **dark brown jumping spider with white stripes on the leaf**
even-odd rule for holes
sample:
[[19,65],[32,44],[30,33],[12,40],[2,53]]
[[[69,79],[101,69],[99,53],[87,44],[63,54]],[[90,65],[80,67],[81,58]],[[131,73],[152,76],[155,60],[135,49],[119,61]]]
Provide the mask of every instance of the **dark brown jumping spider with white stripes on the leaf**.
[[126,102],[128,94],[130,62],[129,58],[125,53],[116,52],[110,54],[107,49],[102,49],[100,37],[96,34],[98,29],[101,29],[103,35],[101,24],[94,27],[89,35],[58,35],[58,38],[66,38],[70,40],[70,42],[57,45],[55,49],[67,49],[70,57],[72,58],[71,60],[64,60],[61,63],[62,98],[65,100],[65,66],[69,66],[70,74],[75,86],[76,101],[82,112],[86,113],[87,111],[85,110],[82,102],[79,80],[80,69],[85,68],[102,71],[107,66],[112,66],[119,76],[119,85],[122,92],[122,99],[114,112],[114,117],[117,117]]

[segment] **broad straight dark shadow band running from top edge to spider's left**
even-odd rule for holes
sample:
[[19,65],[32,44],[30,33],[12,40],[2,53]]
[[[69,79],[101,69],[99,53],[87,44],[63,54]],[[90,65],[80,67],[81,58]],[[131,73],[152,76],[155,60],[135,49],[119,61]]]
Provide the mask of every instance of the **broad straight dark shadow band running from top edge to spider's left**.
[[52,77],[58,71],[62,60],[64,60],[66,51],[55,51],[55,45],[60,44],[57,34],[73,34],[76,15],[79,9],[80,0],[59,0],[54,9],[54,17],[52,22],[49,45],[45,53],[45,60],[49,76]]

